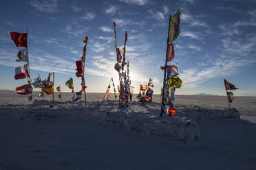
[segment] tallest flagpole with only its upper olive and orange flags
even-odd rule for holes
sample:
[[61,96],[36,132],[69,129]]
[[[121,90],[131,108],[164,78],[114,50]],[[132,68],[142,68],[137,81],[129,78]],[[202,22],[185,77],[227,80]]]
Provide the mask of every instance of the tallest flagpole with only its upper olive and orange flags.
[[[178,38],[180,34],[180,14],[181,11],[180,9],[176,14],[173,16],[169,16],[169,29],[168,29],[168,36],[167,36],[167,52],[165,56],[165,64],[164,64],[164,80],[162,84],[162,102],[161,102],[161,112],[160,112],[160,117],[162,117],[163,112],[166,112],[165,108],[165,85],[166,85],[166,78],[167,78],[167,62],[171,61],[174,58],[174,51],[173,51],[173,44],[171,43],[173,40]],[[173,52],[172,52],[172,51]]]

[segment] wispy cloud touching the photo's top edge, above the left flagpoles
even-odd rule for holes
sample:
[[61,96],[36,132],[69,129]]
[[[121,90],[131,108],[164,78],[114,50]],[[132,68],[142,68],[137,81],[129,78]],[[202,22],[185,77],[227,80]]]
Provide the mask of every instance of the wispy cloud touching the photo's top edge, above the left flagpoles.
[[58,3],[57,0],[45,0],[45,1],[30,1],[30,5],[41,12],[53,13],[57,12]]

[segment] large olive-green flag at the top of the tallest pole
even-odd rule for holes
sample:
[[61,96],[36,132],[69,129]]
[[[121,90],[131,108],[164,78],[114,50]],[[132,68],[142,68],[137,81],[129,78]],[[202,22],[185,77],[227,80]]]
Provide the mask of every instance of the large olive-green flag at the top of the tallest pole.
[[181,11],[179,9],[178,12],[170,18],[168,43],[171,43],[171,41],[175,40],[180,35],[180,14]]

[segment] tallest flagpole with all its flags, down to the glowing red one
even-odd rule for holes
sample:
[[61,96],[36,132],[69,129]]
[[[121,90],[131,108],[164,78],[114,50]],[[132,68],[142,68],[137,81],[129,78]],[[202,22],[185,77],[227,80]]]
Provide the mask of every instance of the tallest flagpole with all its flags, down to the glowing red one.
[[[182,86],[182,80],[178,77],[178,67],[175,65],[168,65],[175,57],[173,40],[178,38],[180,34],[180,9],[176,14],[170,16],[169,19],[169,34],[167,37],[167,54],[164,66],[160,66],[161,70],[164,70],[164,82],[162,88],[162,101],[161,101],[161,113],[167,113],[169,116],[173,116],[175,108],[173,108],[173,101],[175,99],[175,88]],[[169,106],[169,108],[167,108]]]

